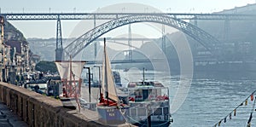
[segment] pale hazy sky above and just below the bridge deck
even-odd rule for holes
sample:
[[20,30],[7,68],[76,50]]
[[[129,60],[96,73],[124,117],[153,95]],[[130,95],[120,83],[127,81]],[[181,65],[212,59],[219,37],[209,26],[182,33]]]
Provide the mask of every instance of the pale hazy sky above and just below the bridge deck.
[[[117,3],[143,3],[168,13],[211,13],[255,3],[255,0],[6,0],[1,3],[0,8],[1,13],[90,13]],[[26,38],[55,38],[56,21],[10,22],[23,32]],[[64,38],[70,37],[70,32],[78,22],[61,22]]]

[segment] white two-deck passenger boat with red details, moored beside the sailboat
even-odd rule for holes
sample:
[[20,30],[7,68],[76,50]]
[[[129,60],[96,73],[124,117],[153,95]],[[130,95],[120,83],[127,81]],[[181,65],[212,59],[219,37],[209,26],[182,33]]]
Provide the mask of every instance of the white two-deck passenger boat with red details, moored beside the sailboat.
[[[144,72],[144,71],[143,71]],[[158,81],[130,82],[128,123],[137,126],[169,126],[173,120],[170,113],[169,89]]]

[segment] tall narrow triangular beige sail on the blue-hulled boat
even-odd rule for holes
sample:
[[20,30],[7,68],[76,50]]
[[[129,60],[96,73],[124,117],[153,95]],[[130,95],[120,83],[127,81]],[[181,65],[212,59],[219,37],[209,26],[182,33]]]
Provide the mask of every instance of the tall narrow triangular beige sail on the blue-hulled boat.
[[[119,101],[115,84],[113,81],[113,74],[111,70],[111,64],[108,57],[108,52],[106,49],[106,44],[104,42],[104,57],[102,63],[102,89],[105,92],[108,92],[108,98],[113,101]],[[106,93],[103,93],[106,96]]]

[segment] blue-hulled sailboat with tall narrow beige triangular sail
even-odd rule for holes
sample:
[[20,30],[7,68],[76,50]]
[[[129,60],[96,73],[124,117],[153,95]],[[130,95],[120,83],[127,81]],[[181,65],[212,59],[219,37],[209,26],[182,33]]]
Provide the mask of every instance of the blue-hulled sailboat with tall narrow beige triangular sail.
[[128,105],[119,99],[117,93],[113,72],[108,58],[106,38],[104,38],[101,88],[102,93],[100,93],[100,101],[96,105],[96,110],[100,117],[99,121],[102,124],[108,125],[125,124],[125,111],[128,109]]

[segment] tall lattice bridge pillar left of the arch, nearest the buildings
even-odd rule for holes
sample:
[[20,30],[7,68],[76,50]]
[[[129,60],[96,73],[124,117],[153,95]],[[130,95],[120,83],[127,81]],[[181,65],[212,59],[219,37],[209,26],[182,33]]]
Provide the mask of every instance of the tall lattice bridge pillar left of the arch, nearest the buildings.
[[55,49],[55,61],[61,61],[63,56],[62,36],[61,36],[61,20],[57,20],[56,31],[56,49]]

